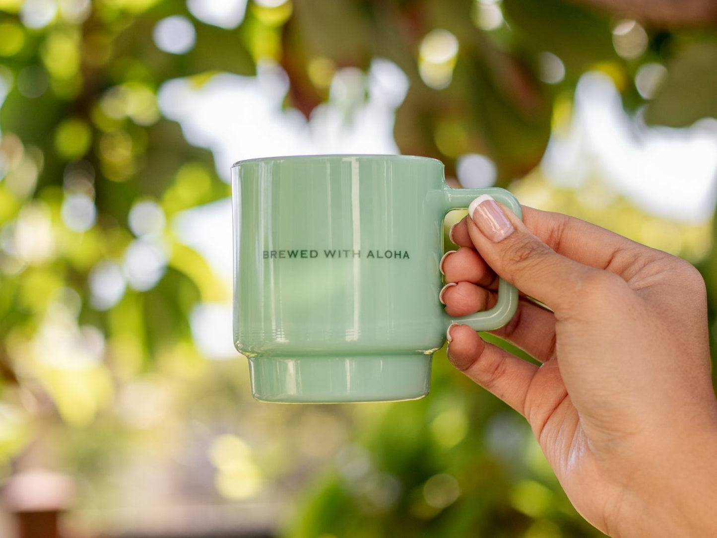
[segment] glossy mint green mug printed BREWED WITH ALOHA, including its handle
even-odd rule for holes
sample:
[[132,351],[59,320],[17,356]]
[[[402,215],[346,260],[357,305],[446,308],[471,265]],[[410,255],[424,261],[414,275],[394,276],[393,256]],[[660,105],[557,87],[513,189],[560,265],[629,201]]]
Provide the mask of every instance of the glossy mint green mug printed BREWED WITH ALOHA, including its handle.
[[402,155],[322,155],[232,166],[234,345],[268,402],[377,402],[427,395],[448,326],[506,324],[518,292],[451,318],[438,293],[443,220],[497,188],[451,189],[443,164]]

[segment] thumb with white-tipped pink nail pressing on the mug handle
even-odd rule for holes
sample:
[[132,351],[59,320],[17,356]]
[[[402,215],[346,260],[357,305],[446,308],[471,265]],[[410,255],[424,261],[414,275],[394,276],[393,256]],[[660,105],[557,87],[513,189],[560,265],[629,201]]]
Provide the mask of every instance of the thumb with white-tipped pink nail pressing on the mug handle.
[[468,215],[470,239],[490,268],[554,311],[569,308],[576,291],[604,273],[556,253],[488,194],[470,203]]

